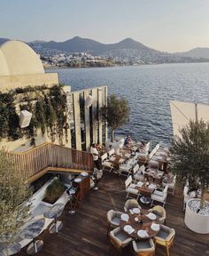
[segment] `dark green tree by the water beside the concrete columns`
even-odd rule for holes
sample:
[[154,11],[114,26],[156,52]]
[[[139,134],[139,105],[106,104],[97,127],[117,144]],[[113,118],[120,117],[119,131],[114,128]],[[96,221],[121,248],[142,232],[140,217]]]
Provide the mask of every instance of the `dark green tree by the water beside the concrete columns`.
[[115,129],[128,122],[129,113],[128,100],[113,94],[108,97],[107,106],[100,109],[100,115],[112,130],[112,141]]

